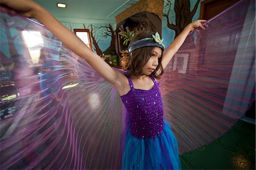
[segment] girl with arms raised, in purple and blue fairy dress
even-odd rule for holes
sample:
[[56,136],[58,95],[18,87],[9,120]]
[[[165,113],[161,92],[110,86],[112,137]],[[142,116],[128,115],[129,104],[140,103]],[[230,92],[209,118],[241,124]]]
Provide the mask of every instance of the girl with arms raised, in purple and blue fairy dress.
[[166,51],[158,33],[138,34],[129,45],[127,74],[123,74],[105,63],[73,32],[35,2],[0,2],[24,16],[38,19],[118,90],[131,117],[122,156],[122,169],[181,169],[175,136],[170,125],[163,120],[162,97],[155,78],[163,73],[189,32],[197,27],[204,28],[202,23],[205,20],[188,24]]

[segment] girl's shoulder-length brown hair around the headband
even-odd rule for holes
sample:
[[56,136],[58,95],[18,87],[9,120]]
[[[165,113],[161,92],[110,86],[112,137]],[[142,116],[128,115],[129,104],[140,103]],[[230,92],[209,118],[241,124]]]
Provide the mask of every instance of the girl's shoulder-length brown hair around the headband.
[[[136,42],[137,40],[141,40],[144,38],[152,38],[152,35],[154,35],[155,32],[140,32],[139,34],[135,35],[134,38],[131,40],[130,44],[133,42]],[[133,52],[131,52],[128,56],[128,61],[126,64],[127,68],[127,75],[130,77],[137,77],[142,76],[142,67],[147,63],[147,61],[150,59],[151,51],[153,47],[142,47],[135,49]],[[163,55],[163,49],[162,49],[162,55]],[[156,67],[155,71],[152,72],[152,76],[155,78],[160,78],[160,76],[163,74],[163,66],[162,66],[162,57],[160,57],[158,61],[158,66]],[[160,74],[157,74],[156,71],[160,69]]]

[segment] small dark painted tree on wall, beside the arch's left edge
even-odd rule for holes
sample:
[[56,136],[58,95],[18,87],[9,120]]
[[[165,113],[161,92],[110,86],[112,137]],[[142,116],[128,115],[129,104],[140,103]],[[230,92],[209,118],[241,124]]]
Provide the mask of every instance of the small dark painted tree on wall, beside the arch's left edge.
[[100,28],[105,28],[105,31],[102,31],[102,36],[107,38],[108,36],[111,37],[110,46],[106,51],[115,51],[115,31],[113,29],[112,24],[105,24],[105,26],[101,26]]

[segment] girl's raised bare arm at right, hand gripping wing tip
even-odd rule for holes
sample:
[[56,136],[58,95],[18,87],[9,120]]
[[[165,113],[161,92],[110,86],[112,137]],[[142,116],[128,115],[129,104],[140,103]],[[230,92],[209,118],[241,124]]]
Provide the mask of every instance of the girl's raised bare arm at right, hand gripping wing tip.
[[175,53],[179,50],[181,45],[184,43],[189,32],[193,31],[197,27],[204,29],[204,26],[202,25],[202,23],[206,21],[207,20],[196,20],[195,22],[188,24],[188,26],[185,27],[184,30],[174,39],[174,41],[171,43],[168,49],[163,53],[163,56],[162,56],[163,69],[166,68],[167,64],[171,61],[172,57],[175,55]]

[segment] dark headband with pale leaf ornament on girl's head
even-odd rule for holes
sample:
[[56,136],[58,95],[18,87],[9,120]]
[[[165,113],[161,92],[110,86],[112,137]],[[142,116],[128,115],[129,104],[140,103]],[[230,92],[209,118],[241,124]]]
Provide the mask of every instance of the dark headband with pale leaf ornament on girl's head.
[[128,47],[128,53],[131,53],[135,49],[142,48],[142,47],[160,47],[164,49],[164,44],[163,44],[163,39],[160,38],[160,35],[158,32],[155,33],[155,35],[152,35],[152,38],[144,38],[141,40],[138,40],[132,44],[129,45]]

